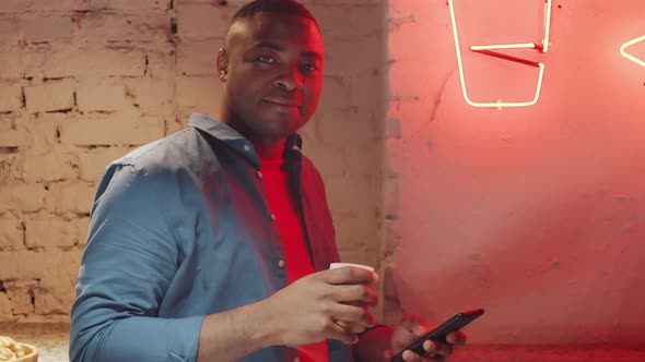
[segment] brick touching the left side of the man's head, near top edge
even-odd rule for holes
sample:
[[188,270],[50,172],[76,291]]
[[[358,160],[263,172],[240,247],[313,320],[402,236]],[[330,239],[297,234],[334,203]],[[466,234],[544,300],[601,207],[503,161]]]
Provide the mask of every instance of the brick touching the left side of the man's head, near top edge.
[[220,8],[212,3],[178,5],[177,35],[191,40],[223,39],[233,12],[231,7]]

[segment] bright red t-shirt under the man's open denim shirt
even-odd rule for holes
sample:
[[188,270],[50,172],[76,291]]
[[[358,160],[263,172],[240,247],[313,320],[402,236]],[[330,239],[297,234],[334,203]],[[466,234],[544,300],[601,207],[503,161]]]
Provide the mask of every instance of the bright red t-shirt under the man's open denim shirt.
[[[314,273],[307,251],[305,230],[300,218],[295,193],[290,188],[284,160],[260,157],[260,166],[267,186],[269,208],[275,218],[286,264],[286,281],[293,281]],[[298,346],[301,362],[328,362],[327,341]]]

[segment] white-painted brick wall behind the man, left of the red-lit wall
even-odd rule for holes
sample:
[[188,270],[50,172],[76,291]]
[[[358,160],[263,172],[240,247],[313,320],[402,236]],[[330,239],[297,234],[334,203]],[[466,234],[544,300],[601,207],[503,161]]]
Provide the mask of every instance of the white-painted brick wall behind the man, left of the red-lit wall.
[[[328,50],[305,152],[328,183],[341,254],[377,265],[384,4],[303,2]],[[69,313],[105,167],[192,111],[218,116],[216,52],[243,3],[0,1],[0,322]]]

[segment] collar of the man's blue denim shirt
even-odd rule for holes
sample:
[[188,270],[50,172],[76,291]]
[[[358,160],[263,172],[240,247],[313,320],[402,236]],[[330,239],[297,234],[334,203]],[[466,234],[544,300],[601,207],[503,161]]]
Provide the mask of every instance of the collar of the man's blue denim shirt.
[[[188,125],[199,129],[224,142],[246,157],[256,168],[260,167],[260,159],[250,141],[246,140],[242,134],[228,126],[228,124],[216,121],[202,113],[192,113],[188,120]],[[286,138],[284,146],[285,150],[300,150],[302,147],[303,140],[300,134],[294,133]]]

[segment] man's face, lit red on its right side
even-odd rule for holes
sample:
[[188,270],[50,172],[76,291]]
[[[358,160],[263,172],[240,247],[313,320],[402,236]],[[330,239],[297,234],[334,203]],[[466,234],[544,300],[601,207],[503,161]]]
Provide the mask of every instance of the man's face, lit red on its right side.
[[305,17],[267,12],[234,24],[218,59],[224,121],[261,141],[298,130],[318,106],[324,51],[318,27]]

